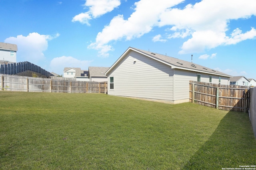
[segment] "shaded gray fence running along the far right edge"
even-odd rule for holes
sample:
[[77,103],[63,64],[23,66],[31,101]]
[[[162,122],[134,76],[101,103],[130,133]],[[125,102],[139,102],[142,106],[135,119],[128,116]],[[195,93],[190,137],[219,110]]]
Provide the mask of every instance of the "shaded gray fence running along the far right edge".
[[256,138],[256,87],[250,88],[250,110],[249,117],[252,123],[254,137]]

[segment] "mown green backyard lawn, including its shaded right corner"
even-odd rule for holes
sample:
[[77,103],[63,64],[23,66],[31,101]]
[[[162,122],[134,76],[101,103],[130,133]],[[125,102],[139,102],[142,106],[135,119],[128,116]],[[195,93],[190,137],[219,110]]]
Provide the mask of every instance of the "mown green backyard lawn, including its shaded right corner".
[[106,94],[0,92],[0,169],[255,165],[247,113]]

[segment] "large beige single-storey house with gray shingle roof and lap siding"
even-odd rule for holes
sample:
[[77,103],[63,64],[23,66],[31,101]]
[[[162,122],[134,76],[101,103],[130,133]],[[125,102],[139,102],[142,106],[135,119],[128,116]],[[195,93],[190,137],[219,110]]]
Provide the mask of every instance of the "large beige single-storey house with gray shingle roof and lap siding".
[[189,102],[189,81],[229,84],[232,76],[166,55],[129,47],[106,71],[108,94]]

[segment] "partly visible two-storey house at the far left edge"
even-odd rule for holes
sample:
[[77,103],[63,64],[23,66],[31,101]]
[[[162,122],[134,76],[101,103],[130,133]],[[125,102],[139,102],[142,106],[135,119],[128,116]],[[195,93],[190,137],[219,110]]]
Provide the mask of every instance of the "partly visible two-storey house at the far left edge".
[[0,61],[16,63],[16,52],[18,47],[16,44],[0,43]]

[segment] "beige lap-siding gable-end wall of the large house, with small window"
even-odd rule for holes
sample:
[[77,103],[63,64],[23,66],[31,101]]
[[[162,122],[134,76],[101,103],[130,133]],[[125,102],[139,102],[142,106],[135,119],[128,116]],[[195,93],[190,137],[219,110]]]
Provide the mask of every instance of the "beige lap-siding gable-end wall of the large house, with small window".
[[[114,89],[110,89],[110,77],[114,77]],[[132,51],[108,75],[108,94],[172,100],[172,80],[170,66]]]

